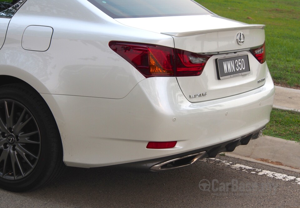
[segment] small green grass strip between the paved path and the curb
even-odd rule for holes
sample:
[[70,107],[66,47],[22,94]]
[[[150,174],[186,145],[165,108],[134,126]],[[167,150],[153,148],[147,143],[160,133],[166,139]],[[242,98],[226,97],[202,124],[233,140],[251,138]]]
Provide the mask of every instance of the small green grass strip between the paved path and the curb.
[[273,109],[264,134],[300,142],[300,113]]

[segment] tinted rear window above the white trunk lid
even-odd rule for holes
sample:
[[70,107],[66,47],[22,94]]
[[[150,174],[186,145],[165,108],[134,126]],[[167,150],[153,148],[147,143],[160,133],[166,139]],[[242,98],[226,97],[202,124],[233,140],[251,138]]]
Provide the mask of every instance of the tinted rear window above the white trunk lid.
[[88,0],[112,18],[211,14],[192,0]]

